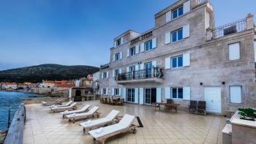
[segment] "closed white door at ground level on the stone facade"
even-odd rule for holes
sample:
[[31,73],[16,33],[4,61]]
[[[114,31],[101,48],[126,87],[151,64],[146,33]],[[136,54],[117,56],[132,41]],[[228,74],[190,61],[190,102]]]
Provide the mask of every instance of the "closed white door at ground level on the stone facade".
[[207,87],[204,88],[206,99],[206,111],[209,113],[222,113],[221,107],[221,88]]

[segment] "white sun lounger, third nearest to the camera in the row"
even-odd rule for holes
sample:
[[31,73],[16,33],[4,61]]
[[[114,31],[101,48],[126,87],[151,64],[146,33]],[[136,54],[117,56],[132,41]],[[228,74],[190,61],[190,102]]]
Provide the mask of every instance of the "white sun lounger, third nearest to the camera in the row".
[[97,118],[99,118],[99,113],[97,113],[97,110],[99,110],[99,107],[94,106],[87,113],[72,113],[70,115],[65,115],[65,117],[69,118],[69,121],[72,121],[73,123],[75,123],[75,121],[78,119],[84,119],[94,116],[97,116]]

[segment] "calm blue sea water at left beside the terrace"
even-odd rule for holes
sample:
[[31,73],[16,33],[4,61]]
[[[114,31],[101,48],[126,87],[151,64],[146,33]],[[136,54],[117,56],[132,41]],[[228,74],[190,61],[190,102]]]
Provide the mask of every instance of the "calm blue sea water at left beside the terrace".
[[7,129],[8,110],[10,106],[16,105],[15,107],[12,107],[11,110],[12,118],[15,114],[15,111],[18,109],[18,105],[20,105],[20,98],[39,96],[42,95],[0,91],[0,131]]

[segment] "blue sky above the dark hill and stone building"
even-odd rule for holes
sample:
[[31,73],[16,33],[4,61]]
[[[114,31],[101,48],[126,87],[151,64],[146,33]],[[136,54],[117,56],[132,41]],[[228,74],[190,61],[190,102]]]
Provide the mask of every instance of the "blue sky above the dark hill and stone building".
[[[0,70],[106,64],[113,38],[154,27],[176,0],[0,0]],[[256,14],[255,0],[211,0],[216,26]],[[256,19],[256,18],[255,18]]]

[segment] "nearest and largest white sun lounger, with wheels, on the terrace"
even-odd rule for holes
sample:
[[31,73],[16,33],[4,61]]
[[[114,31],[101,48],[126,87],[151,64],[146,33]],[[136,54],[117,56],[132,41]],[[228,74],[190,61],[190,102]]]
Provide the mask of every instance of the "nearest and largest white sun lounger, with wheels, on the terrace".
[[116,134],[129,132],[130,130],[132,130],[132,132],[135,134],[136,127],[134,124],[132,124],[134,119],[135,116],[126,114],[123,118],[121,118],[121,121],[119,121],[118,124],[91,130],[89,131],[89,134],[91,134],[94,139],[102,141],[102,144],[105,144],[105,140],[107,140],[108,137],[112,137]]

